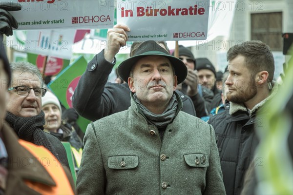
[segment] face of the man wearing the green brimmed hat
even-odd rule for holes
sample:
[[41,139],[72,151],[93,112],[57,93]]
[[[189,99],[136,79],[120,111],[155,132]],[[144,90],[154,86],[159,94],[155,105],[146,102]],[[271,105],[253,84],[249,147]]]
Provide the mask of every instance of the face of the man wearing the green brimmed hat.
[[177,86],[169,59],[147,56],[139,59],[133,67],[133,78],[128,85],[146,107],[167,105]]

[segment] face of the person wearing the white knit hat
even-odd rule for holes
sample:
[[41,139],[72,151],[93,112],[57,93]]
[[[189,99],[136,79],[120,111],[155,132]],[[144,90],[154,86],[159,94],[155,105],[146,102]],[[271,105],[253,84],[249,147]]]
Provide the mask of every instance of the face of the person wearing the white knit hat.
[[45,114],[44,128],[48,131],[57,133],[57,130],[61,126],[61,113],[59,107],[55,104],[46,104],[42,107]]

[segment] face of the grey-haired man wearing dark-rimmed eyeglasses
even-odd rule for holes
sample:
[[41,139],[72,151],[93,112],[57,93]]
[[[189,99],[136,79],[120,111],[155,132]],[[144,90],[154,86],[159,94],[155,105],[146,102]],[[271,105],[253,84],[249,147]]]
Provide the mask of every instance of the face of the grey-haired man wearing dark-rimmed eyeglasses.
[[[12,74],[11,87],[27,86],[30,88],[42,87],[41,80],[31,73],[15,71]],[[16,89],[9,91],[10,98],[7,103],[7,111],[19,117],[33,117],[41,113],[42,98],[30,90],[27,96],[17,94]]]

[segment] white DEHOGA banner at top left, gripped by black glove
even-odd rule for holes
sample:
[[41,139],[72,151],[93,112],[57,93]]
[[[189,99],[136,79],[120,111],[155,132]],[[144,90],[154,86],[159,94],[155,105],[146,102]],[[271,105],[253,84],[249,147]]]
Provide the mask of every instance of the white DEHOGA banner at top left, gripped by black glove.
[[21,4],[11,11],[19,30],[54,28],[111,28],[114,0],[0,0]]

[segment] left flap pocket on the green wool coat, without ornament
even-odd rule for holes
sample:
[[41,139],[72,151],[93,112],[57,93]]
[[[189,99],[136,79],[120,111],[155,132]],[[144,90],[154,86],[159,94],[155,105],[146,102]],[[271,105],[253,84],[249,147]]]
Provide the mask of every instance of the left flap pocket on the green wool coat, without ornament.
[[138,156],[109,156],[110,169],[133,169],[138,166]]

